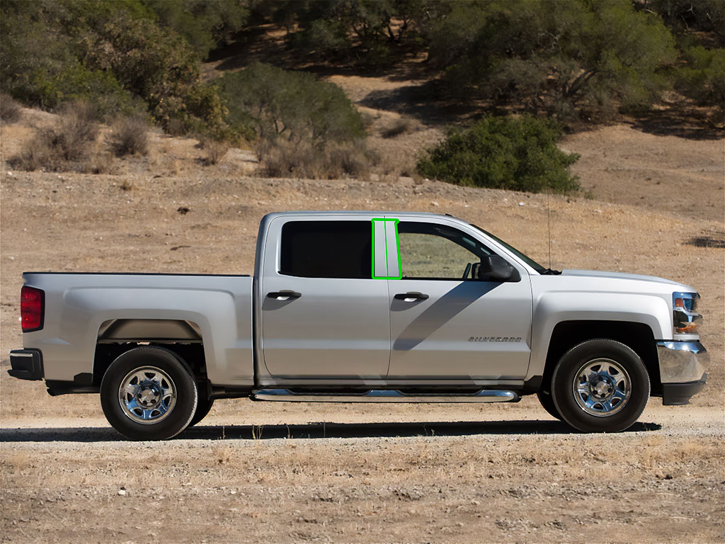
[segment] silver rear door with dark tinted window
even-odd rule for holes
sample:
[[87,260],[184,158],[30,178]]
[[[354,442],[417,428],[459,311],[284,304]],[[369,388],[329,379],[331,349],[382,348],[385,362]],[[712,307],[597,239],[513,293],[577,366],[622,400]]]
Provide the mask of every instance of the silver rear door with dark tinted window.
[[[278,378],[382,379],[386,281],[372,279],[370,218],[275,218],[262,274],[262,353]],[[384,247],[378,248],[384,255]]]

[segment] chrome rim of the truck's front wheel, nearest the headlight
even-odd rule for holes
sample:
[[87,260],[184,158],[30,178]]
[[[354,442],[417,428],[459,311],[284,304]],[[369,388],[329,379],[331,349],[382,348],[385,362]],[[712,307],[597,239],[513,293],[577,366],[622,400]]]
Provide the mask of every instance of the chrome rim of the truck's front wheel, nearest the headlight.
[[589,360],[574,374],[576,403],[592,416],[612,416],[631,395],[631,380],[621,364],[611,359]]

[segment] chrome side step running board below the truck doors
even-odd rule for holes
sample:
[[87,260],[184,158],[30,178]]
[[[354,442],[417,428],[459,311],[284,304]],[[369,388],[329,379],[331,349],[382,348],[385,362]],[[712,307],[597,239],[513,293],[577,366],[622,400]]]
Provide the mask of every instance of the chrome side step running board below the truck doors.
[[411,395],[392,390],[355,393],[295,393],[286,389],[260,389],[252,400],[281,400],[297,403],[510,403],[518,402],[513,391],[481,390],[466,395]]

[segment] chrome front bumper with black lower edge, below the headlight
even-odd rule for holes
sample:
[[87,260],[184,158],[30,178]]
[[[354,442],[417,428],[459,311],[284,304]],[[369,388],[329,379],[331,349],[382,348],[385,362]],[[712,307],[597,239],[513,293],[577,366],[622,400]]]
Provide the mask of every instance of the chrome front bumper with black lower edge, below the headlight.
[[666,406],[688,404],[690,397],[705,387],[705,367],[710,354],[700,342],[657,342],[662,381],[662,403]]

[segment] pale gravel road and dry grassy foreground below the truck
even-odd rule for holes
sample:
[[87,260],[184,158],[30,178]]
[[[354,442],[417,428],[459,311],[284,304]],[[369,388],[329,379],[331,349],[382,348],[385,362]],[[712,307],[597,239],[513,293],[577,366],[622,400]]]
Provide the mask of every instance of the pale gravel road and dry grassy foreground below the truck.
[[528,397],[256,406],[217,403],[169,442],[102,419],[4,419],[3,540],[725,540],[718,409],[653,400],[630,431],[593,435]]

